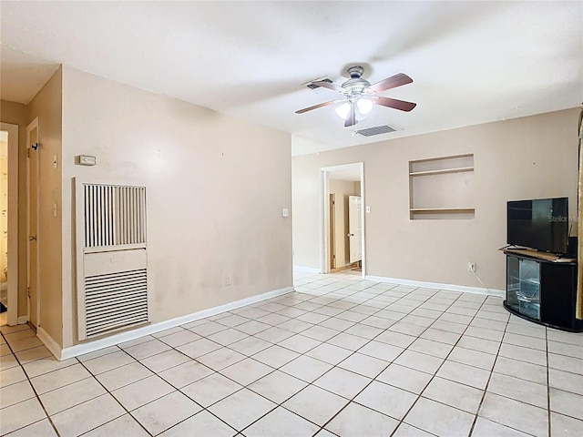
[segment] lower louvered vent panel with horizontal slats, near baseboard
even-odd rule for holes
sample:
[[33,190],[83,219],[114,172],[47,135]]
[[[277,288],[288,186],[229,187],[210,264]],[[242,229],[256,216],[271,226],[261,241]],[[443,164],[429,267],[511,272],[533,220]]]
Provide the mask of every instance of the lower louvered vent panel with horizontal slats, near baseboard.
[[87,338],[148,321],[146,269],[85,279]]

